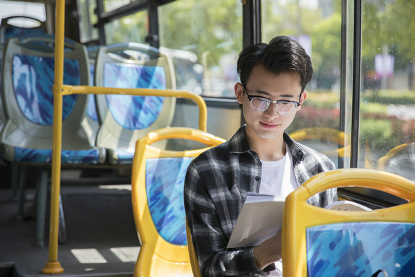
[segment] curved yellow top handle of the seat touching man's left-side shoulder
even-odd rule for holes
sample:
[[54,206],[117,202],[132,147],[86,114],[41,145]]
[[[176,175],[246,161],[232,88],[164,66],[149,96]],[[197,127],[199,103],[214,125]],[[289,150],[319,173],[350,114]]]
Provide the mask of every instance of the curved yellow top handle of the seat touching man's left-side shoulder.
[[188,139],[204,143],[208,146],[225,142],[225,140],[219,138],[219,136],[203,132],[200,129],[187,127],[167,127],[158,129],[154,132],[149,132],[145,138],[147,138],[147,144],[155,143],[156,141],[161,141],[163,139]]

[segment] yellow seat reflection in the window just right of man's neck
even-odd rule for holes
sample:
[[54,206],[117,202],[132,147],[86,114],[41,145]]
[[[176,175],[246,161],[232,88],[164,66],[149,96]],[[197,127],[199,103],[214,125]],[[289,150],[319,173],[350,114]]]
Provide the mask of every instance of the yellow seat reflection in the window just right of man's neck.
[[[339,158],[344,164],[344,159],[350,157],[350,139],[344,132],[328,127],[310,127],[298,129],[290,134],[291,139],[304,143],[311,148],[325,154],[336,167],[339,166]],[[335,148],[335,149],[333,149]]]

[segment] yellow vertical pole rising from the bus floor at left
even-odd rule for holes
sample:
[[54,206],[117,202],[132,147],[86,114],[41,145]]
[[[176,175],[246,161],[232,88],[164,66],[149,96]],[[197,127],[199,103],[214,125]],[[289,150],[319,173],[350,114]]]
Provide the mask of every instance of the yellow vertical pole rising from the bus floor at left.
[[55,33],[55,84],[53,85],[53,145],[52,178],[50,188],[50,229],[49,260],[42,269],[43,274],[60,274],[64,272],[57,260],[57,242],[59,231],[59,194],[60,167],[62,148],[62,84],[64,80],[64,28],[65,1],[56,1]]

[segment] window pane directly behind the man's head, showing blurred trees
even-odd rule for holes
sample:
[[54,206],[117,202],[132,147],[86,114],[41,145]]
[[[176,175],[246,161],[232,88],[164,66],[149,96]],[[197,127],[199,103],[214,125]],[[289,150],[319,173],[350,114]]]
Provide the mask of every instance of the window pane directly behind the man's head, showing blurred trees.
[[342,167],[348,155],[342,150],[339,161],[337,150],[347,148],[349,140],[339,131],[341,9],[341,0],[261,1],[262,41],[268,43],[277,35],[293,37],[313,62],[306,101],[286,132]]

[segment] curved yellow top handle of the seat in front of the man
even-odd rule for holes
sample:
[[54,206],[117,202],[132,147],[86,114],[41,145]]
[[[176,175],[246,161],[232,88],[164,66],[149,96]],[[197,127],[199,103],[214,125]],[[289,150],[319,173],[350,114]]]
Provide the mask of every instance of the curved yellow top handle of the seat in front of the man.
[[302,185],[308,190],[308,195],[302,195],[301,201],[305,202],[312,195],[330,188],[347,186],[373,188],[407,199],[409,202],[415,201],[415,184],[412,181],[389,172],[363,168],[331,170],[311,177]]

